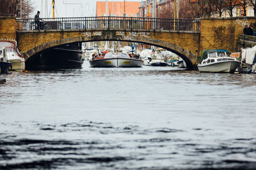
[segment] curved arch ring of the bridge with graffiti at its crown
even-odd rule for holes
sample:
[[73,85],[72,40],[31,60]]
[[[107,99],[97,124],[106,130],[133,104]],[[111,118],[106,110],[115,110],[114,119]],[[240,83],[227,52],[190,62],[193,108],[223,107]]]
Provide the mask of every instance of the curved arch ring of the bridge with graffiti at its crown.
[[29,57],[31,57],[35,53],[46,50],[47,48],[52,48],[58,45],[65,45],[68,43],[90,42],[90,41],[128,41],[128,42],[145,43],[148,45],[158,46],[179,55],[186,62],[188,68],[193,68],[193,66],[195,66],[196,64],[196,59],[197,59],[197,55],[173,43],[168,43],[166,41],[161,41],[158,39],[135,37],[135,36],[113,36],[113,34],[105,34],[102,36],[80,36],[75,38],[51,41],[49,43],[44,43],[42,45],[36,46],[35,48],[32,48],[22,53],[22,55],[24,56],[25,60],[27,60],[29,59]]

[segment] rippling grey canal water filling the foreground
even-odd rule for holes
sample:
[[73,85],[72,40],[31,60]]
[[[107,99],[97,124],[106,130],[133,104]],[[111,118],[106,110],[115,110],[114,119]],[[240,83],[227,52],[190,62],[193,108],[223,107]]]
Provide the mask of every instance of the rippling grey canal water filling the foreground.
[[1,74],[0,169],[255,169],[256,74]]

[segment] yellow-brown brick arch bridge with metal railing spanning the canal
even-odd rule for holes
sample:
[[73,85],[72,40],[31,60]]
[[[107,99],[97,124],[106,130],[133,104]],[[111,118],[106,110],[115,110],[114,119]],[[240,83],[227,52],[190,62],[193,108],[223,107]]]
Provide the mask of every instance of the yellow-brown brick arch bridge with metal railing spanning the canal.
[[49,25],[53,23],[51,29],[33,29],[33,19],[0,17],[0,38],[8,36],[17,39],[26,60],[42,50],[67,43],[131,41],[170,50],[182,57],[188,67],[193,67],[204,49],[222,48],[236,52],[238,34],[243,32],[245,24],[255,22],[254,17],[200,20],[89,17],[45,20]]

